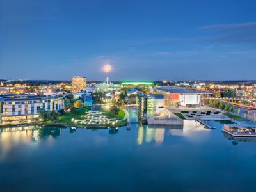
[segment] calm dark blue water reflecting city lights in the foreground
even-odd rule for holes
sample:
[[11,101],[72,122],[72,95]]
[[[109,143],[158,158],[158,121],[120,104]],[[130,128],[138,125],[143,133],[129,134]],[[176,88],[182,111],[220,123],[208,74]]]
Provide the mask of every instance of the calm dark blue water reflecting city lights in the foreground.
[[255,191],[255,140],[207,123],[0,129],[0,191]]

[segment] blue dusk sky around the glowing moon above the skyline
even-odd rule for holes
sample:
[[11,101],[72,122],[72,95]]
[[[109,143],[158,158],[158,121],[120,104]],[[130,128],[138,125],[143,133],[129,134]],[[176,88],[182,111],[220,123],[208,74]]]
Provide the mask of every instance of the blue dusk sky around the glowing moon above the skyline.
[[0,79],[256,79],[255,7],[246,0],[0,0]]

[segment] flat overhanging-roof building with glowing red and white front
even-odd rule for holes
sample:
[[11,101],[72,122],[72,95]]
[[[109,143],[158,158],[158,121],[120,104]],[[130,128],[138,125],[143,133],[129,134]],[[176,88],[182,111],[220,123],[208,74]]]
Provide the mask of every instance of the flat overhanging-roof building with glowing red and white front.
[[202,96],[211,95],[209,92],[179,88],[175,86],[159,86],[154,88],[154,92],[164,95],[164,104],[167,107],[182,106],[195,108],[202,104]]

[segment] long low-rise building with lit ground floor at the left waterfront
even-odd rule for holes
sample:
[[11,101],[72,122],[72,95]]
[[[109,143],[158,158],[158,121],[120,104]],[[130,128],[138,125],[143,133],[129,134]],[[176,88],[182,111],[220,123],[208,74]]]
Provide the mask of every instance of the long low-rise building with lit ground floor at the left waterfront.
[[64,109],[63,97],[0,95],[0,125],[27,124],[38,121],[39,109]]

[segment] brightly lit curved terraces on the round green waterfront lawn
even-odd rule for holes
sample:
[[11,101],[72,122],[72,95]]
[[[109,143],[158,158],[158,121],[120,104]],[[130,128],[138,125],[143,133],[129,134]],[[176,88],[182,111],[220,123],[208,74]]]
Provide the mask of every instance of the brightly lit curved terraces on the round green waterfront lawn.
[[83,120],[72,119],[76,124],[87,124],[87,125],[115,125],[118,120],[115,118],[109,118],[105,112],[102,111],[87,111],[84,115],[81,115]]

